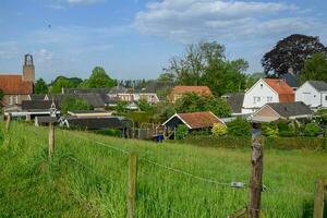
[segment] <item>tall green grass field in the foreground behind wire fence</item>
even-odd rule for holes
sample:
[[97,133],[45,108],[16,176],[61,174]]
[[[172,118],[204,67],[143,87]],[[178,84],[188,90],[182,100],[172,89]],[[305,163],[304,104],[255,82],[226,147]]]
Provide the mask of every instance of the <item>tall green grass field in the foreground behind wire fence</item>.
[[[0,147],[0,217],[125,217],[129,159],[119,149],[140,157],[137,217],[227,217],[247,203],[249,190],[229,183],[249,181],[251,149],[154,144],[56,129],[49,164],[47,131],[12,123],[10,140]],[[265,150],[265,217],[312,217],[318,177],[327,178],[326,153]]]

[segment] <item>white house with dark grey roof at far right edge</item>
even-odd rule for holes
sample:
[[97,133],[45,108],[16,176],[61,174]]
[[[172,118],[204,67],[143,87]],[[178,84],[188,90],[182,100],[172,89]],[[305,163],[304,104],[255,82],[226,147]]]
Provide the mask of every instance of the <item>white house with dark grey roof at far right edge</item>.
[[327,83],[306,81],[295,92],[295,100],[303,101],[312,109],[327,108]]

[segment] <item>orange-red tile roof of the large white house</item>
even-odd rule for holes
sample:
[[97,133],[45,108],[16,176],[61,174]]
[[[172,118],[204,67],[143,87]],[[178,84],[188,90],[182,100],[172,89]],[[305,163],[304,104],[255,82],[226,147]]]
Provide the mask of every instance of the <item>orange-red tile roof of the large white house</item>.
[[293,88],[291,88],[283,80],[278,78],[264,78],[264,81],[276,92],[279,96],[279,102],[293,102],[295,95]]

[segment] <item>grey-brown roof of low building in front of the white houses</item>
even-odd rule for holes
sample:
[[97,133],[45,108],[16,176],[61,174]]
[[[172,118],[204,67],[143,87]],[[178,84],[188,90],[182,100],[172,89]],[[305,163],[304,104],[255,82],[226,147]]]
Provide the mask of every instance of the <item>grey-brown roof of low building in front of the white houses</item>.
[[267,104],[271,107],[278,114],[284,118],[294,116],[311,114],[312,110],[302,101],[296,102],[270,102]]

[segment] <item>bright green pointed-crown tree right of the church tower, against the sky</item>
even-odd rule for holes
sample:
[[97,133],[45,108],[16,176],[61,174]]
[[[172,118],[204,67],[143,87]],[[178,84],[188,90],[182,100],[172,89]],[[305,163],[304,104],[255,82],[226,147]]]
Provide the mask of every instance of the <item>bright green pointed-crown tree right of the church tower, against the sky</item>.
[[117,83],[112,80],[105,69],[101,66],[95,66],[88,80],[85,80],[80,86],[86,88],[105,88],[113,87]]

